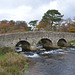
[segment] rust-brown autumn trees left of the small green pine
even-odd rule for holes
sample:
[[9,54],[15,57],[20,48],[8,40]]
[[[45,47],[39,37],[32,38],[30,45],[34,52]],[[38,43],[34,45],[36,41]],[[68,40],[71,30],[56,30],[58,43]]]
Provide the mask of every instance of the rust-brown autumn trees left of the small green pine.
[[19,31],[27,31],[27,23],[25,21],[0,21],[0,34],[3,33],[13,33]]

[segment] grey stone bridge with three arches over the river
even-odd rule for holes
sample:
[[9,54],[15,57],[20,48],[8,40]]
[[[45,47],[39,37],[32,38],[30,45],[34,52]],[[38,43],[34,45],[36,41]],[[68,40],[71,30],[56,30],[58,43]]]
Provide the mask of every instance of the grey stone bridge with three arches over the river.
[[18,32],[0,35],[0,47],[16,46],[20,41],[28,42],[31,46],[36,46],[42,40],[49,40],[53,46],[57,46],[60,40],[66,43],[75,40],[75,33],[68,32],[51,32],[51,31],[31,31],[31,32]]

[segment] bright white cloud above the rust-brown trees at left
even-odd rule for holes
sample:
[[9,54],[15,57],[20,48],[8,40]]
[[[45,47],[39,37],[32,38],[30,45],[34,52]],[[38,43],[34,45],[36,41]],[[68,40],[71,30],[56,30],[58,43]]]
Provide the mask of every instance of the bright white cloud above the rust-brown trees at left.
[[[32,10],[31,7],[28,6],[20,6],[15,9],[6,9],[6,10],[0,10],[0,16],[5,15],[5,18],[10,20],[24,20],[24,18],[29,17],[29,12]],[[4,18],[4,16],[3,16]]]

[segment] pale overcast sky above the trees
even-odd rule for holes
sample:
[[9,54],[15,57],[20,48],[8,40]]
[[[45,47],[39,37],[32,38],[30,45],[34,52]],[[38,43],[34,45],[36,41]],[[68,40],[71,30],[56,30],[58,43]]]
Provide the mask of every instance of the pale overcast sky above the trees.
[[75,0],[0,0],[0,20],[40,20],[49,9],[75,17]]

